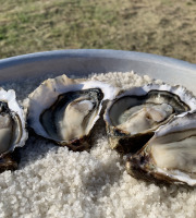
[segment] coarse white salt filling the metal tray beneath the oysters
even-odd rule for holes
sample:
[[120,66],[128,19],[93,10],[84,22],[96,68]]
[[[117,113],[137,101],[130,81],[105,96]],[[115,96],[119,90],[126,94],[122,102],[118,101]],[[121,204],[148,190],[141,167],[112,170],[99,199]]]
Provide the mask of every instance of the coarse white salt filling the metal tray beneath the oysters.
[[[123,88],[152,82],[134,73],[91,77]],[[16,89],[23,100],[33,90],[30,83],[21,89],[15,84],[4,87]],[[0,218],[196,217],[194,187],[156,185],[126,173],[123,158],[108,145],[102,120],[89,153],[70,152],[32,135],[20,154],[19,170],[0,177]]]

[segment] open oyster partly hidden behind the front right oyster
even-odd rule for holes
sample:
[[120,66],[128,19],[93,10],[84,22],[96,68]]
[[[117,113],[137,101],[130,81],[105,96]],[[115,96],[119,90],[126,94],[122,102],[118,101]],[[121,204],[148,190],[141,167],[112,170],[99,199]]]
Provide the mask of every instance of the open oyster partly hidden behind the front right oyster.
[[174,114],[195,108],[196,99],[180,86],[147,85],[126,90],[106,109],[110,146],[134,154]]

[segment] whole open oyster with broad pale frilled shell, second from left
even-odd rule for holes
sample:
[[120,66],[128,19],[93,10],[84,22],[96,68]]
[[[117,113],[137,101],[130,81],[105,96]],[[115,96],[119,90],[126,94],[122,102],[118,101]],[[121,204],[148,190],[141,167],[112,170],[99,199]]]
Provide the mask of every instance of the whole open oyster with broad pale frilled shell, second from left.
[[112,99],[115,93],[115,88],[98,81],[77,84],[65,75],[49,78],[29,95],[28,124],[59,145],[87,149],[102,100]]

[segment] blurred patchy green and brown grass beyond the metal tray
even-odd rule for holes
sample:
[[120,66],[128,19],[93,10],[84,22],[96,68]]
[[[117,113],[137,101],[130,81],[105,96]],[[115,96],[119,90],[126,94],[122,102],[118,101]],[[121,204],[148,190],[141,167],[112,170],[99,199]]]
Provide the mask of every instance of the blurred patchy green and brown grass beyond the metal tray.
[[0,58],[120,49],[196,63],[196,0],[0,0]]

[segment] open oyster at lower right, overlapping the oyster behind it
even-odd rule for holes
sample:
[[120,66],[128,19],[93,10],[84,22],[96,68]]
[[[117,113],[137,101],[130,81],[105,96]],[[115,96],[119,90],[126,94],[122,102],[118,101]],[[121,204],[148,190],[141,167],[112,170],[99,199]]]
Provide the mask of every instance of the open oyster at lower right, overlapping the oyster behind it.
[[126,161],[130,174],[145,180],[196,185],[196,111],[176,116]]

